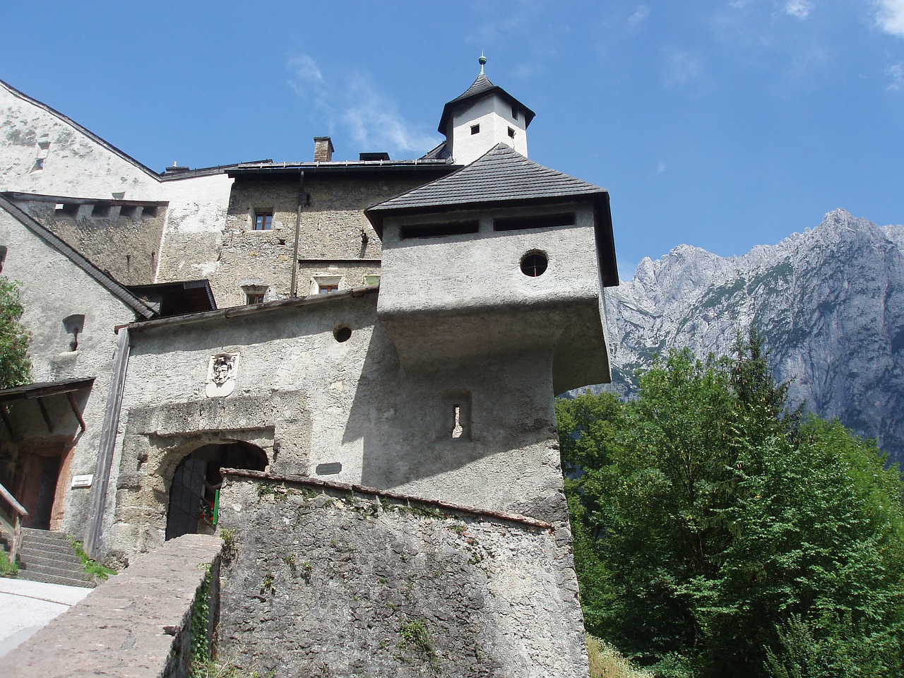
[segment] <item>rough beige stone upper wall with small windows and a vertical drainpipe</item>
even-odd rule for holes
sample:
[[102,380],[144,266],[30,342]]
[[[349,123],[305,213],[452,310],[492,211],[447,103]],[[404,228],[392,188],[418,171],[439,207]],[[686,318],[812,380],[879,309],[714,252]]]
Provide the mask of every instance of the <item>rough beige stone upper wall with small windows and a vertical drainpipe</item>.
[[[289,297],[292,267],[297,266],[293,253],[300,197],[298,259],[306,260],[306,270],[297,276],[297,295],[311,294],[315,272],[343,278],[341,289],[362,285],[364,275],[379,274],[381,256],[380,239],[364,217],[364,208],[426,181],[428,177],[418,175],[333,178],[313,174],[306,176],[304,186],[290,181],[238,181],[232,184],[225,213],[211,212],[203,233],[189,231],[178,217],[171,218],[159,279],[184,278],[187,264],[210,278],[220,307],[245,304],[248,293],[265,294],[267,301]],[[272,212],[270,229],[254,230],[259,212]],[[356,264],[360,259],[367,261]]]

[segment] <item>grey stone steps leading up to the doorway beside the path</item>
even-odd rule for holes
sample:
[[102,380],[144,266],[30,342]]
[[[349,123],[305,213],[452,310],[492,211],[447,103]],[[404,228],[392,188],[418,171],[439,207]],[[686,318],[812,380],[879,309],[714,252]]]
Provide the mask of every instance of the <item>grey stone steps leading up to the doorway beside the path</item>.
[[95,586],[65,534],[29,527],[22,530],[19,577],[48,584]]

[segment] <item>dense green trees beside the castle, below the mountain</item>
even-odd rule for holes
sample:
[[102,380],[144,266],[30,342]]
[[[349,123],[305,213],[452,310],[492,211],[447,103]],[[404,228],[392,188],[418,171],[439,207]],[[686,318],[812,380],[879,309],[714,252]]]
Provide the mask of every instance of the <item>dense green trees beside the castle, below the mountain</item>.
[[899,471],[786,410],[752,332],[557,413],[588,630],[657,676],[904,673]]

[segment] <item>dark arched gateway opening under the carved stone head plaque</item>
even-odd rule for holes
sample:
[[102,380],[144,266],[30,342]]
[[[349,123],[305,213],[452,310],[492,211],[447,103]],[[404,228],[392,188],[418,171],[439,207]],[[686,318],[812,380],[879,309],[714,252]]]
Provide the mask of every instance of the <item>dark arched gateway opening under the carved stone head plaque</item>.
[[211,530],[216,524],[221,468],[267,469],[267,453],[242,441],[197,447],[179,463],[170,486],[165,539]]

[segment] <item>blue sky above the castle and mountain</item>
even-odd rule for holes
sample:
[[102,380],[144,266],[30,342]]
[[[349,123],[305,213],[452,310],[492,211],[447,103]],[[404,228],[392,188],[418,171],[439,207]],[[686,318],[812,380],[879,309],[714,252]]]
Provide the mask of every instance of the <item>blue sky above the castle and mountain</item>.
[[422,155],[486,73],[530,155],[607,188],[622,278],[843,207],[904,222],[904,0],[181,2],[4,10],[0,79],[157,171]]

